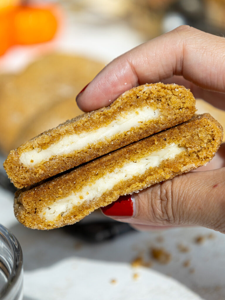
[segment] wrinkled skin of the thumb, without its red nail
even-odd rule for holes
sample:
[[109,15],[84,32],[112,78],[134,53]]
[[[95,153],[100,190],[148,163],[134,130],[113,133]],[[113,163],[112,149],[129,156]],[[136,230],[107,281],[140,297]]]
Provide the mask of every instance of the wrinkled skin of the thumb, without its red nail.
[[214,174],[204,173],[182,174],[143,190],[138,217],[148,225],[192,224],[225,233],[224,175],[214,179]]

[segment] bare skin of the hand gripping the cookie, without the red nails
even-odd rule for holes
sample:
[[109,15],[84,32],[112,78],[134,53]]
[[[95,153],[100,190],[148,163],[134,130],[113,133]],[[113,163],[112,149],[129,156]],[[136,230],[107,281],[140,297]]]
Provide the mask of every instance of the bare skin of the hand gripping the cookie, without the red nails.
[[[180,26],[114,59],[77,96],[77,104],[95,110],[134,86],[158,81],[184,85],[196,98],[225,109],[225,39]],[[134,194],[136,214],[114,219],[144,229],[200,225],[225,232],[224,161],[222,146],[200,168],[208,171],[182,174]]]

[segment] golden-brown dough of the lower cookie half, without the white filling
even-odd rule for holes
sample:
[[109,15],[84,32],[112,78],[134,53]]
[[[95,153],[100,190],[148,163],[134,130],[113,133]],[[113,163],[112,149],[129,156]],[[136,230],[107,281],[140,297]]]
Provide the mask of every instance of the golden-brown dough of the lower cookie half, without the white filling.
[[[73,224],[95,209],[116,201],[120,195],[138,192],[206,164],[218,150],[222,137],[221,125],[209,114],[195,116],[188,122],[125,146],[33,188],[19,190],[15,196],[15,216],[25,226],[37,229]],[[158,167],[148,168],[143,174],[136,174],[127,180],[124,178],[101,197],[74,205],[72,210],[59,214],[54,220],[47,221],[45,217],[41,217],[43,209],[59,199],[76,193],[87,184],[104,177],[106,173],[122,167],[124,163],[136,161],[171,143],[186,150],[173,159],[163,160]]]

